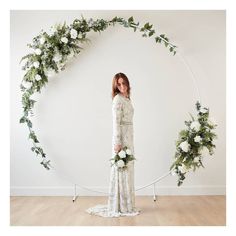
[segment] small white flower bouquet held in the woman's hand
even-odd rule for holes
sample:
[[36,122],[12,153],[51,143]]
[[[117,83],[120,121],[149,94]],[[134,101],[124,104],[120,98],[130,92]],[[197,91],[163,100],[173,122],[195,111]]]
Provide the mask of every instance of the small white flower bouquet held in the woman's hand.
[[110,159],[111,165],[116,165],[119,170],[126,169],[128,162],[133,160],[135,160],[135,158],[127,146],[121,149],[113,158]]

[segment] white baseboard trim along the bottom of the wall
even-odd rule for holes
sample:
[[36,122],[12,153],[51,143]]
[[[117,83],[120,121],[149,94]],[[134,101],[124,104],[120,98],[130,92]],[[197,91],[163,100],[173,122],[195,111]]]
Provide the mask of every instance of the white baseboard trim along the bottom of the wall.
[[[108,192],[104,187],[88,187],[96,191]],[[91,192],[77,187],[79,196],[107,196],[105,193]],[[225,195],[225,186],[160,186],[156,187],[157,195]],[[34,186],[12,186],[10,189],[11,196],[73,196],[74,186],[51,186],[51,187],[34,187]],[[136,192],[137,196],[153,195],[153,188],[148,187]]]

